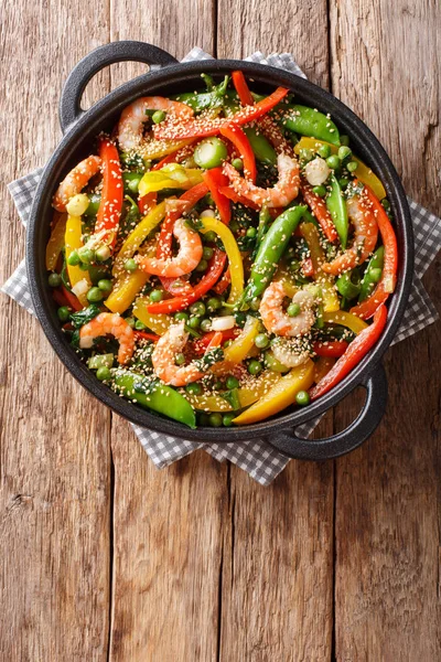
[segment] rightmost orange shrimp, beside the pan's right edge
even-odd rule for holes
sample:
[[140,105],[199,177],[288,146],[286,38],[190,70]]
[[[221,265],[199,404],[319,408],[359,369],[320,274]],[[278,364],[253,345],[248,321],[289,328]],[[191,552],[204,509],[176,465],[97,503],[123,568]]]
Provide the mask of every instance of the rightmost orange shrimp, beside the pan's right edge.
[[378,225],[374,212],[364,197],[353,195],[347,200],[347,214],[354,225],[354,243],[342,255],[332,263],[325,263],[322,267],[326,274],[338,276],[343,271],[354,269],[362,265],[374,250],[378,237]]

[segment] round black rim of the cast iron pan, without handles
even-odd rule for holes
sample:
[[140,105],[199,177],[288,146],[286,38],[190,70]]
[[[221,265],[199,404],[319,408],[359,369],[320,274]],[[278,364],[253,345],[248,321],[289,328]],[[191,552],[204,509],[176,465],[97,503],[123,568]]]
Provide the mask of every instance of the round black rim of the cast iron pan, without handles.
[[[344,125],[345,128],[348,127],[346,131],[349,136],[356,131],[358,137],[363,139],[363,142],[369,146],[370,153],[373,154],[372,161],[376,167],[380,163],[379,170],[387,172],[390,180],[390,182],[384,181],[383,183],[391,200],[396,222],[402,226],[404,231],[404,241],[399,254],[402,271],[388,307],[388,321],[379,342],[337,386],[304,409],[282,414],[275,419],[240,428],[223,428],[222,435],[219,435],[219,429],[216,428],[204,427],[193,430],[171,419],[151,414],[116,395],[108,386],[98,382],[95,375],[80,362],[75,351],[68,345],[60,327],[56,325],[53,316],[50,313],[50,306],[46,306],[43,300],[43,285],[37,282],[37,254],[40,250],[35,244],[34,236],[36,224],[42,215],[41,207],[45,204],[47,196],[52,197],[54,190],[53,171],[56,170],[58,161],[67,150],[73,150],[75,141],[78,141],[78,137],[82,137],[84,129],[90,127],[93,124],[103,124],[101,116],[104,111],[108,111],[108,114],[116,113],[139,97],[141,93],[151,92],[152,88],[158,88],[163,84],[170,84],[171,79],[182,74],[185,79],[185,74],[194,75],[201,72],[224,73],[225,71],[235,68],[247,71],[249,74],[255,75],[259,82],[269,85],[286,85],[304,98],[313,97],[314,106],[315,102],[318,102],[318,107],[322,107],[322,109],[325,107],[327,111],[331,111],[337,125]],[[180,78],[175,83],[179,83],[179,81]],[[95,132],[98,134],[99,129],[96,128]],[[268,438],[278,430],[294,429],[297,426],[323,414],[336,405],[356,386],[366,384],[375,371],[376,364],[392,341],[406,309],[413,271],[412,225],[406,193],[388,154],[370,129],[343,102],[340,102],[329,92],[295,74],[269,65],[237,60],[205,60],[202,62],[171,64],[160,71],[149,72],[125,83],[97,102],[90,109],[84,111],[78,120],[68,128],[44,168],[35,193],[26,231],[26,268],[32,300],[44,333],[64,365],[89,393],[117,414],[141,427],[183,439],[228,444]],[[293,440],[293,444],[295,444],[295,440]]]

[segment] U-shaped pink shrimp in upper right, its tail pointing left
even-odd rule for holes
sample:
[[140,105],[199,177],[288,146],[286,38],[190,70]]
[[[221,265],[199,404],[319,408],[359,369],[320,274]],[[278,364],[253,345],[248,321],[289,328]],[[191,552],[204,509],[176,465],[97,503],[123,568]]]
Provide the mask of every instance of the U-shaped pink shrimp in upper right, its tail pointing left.
[[225,163],[224,173],[229,179],[235,192],[254,204],[267,207],[284,207],[299,194],[299,163],[297,159],[287,154],[279,154],[277,158],[277,169],[279,171],[279,181],[272,189],[256,186],[251,181],[240,177],[230,163]]

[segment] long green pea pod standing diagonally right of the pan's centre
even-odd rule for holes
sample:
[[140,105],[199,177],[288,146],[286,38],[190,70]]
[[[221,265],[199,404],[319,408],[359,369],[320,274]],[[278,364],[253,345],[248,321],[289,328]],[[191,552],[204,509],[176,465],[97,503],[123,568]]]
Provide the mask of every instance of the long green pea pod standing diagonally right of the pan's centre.
[[288,242],[305,211],[303,205],[288,209],[272,223],[257,252],[243,301],[260,297],[271,282]]

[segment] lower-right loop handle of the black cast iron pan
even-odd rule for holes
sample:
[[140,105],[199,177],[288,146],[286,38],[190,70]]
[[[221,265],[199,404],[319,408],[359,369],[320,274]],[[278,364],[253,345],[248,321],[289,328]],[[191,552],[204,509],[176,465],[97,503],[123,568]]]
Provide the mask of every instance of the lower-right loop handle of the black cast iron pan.
[[289,458],[298,460],[329,460],[354,450],[370,437],[386,410],[387,378],[381,364],[374,367],[362,386],[367,391],[366,402],[357,418],[342,433],[314,441],[300,439],[294,431],[288,431],[266,440]]

